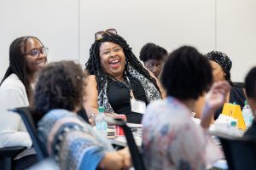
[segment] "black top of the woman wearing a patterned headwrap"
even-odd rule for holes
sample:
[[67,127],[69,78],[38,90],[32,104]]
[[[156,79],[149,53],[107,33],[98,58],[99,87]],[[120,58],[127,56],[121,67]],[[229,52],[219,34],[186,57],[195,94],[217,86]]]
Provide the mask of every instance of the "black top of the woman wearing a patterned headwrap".
[[[244,101],[246,100],[244,93],[243,93],[243,88],[237,88],[237,87],[232,87],[230,89],[230,103],[236,102],[236,105],[240,105],[241,110],[244,106]],[[214,115],[214,120],[218,119],[218,116],[221,114],[223,110],[223,106],[220,107]]]

